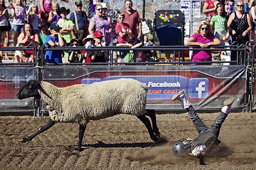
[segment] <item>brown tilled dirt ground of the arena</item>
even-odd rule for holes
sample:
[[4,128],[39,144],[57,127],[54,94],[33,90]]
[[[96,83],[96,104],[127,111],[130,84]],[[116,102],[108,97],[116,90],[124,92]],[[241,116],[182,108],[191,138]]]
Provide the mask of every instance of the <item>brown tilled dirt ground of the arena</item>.
[[[210,126],[219,113],[201,113]],[[82,151],[72,151],[78,142],[79,125],[57,123],[32,141],[30,135],[49,117],[0,117],[0,169],[88,169],[88,170],[172,170],[172,169],[256,169],[256,113],[231,113],[220,131],[219,150],[206,155],[206,165],[197,158],[176,158],[172,145],[180,138],[197,137],[188,114],[158,114],[162,138],[153,142],[136,117],[117,115],[91,121],[86,128]]]

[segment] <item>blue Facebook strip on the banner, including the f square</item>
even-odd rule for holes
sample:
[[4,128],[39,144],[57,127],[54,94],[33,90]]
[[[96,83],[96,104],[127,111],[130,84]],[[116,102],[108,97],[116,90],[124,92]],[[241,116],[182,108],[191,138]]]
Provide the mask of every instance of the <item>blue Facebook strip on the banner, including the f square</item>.
[[[148,86],[148,100],[170,100],[177,92],[184,90],[190,98],[207,98],[209,80],[207,78],[191,78],[180,75],[115,75],[104,77],[104,80],[131,78]],[[81,84],[91,84],[100,79],[82,79]]]

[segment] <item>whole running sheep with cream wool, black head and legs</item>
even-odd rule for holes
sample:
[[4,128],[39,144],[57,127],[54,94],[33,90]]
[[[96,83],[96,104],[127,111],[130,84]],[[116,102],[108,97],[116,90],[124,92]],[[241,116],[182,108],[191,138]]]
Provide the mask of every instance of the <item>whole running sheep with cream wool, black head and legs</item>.
[[[73,150],[81,151],[82,138],[90,120],[130,114],[142,121],[150,138],[158,142],[160,132],[156,125],[155,110],[145,109],[147,92],[148,87],[134,79],[107,80],[68,87],[56,87],[46,81],[30,80],[17,92],[17,98],[38,98],[46,104],[50,119],[37,132],[19,138],[19,141],[31,141],[57,122],[78,123],[78,145]],[[146,116],[151,119],[152,126]]]

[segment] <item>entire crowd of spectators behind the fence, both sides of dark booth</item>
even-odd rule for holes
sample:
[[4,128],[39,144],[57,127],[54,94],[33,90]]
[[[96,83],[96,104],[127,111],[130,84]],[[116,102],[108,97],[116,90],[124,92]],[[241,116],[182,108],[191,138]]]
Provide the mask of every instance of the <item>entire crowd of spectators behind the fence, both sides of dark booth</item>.
[[[68,0],[62,0],[69,4]],[[136,62],[138,53],[133,51],[135,47],[153,45],[152,30],[148,35],[142,37],[142,23],[139,13],[134,10],[133,2],[126,0],[125,8],[117,14],[117,24],[114,27],[112,18],[107,15],[107,4],[103,0],[91,1],[92,17],[88,19],[86,12],[82,11],[82,1],[75,1],[75,11],[69,8],[60,7],[58,2],[51,0],[40,0],[40,6],[30,4],[28,10],[22,5],[22,0],[14,0],[11,4],[11,16],[13,19],[14,46],[47,45],[57,46],[85,46],[86,49],[94,46],[113,46],[113,29],[117,34],[116,46],[127,46],[130,49],[117,51],[117,62]],[[255,35],[255,23],[251,22],[249,15],[252,9],[252,18],[256,19],[255,0],[238,1],[236,11],[233,12],[234,0],[206,0],[203,6],[203,13],[207,14],[206,20],[198,25],[197,30],[185,45],[199,45],[201,48],[209,45],[218,45],[219,41],[224,44],[223,37],[232,36],[233,40],[244,44],[248,40],[248,33],[252,29]],[[69,15],[70,14],[70,15]],[[69,15],[69,18],[67,18]],[[27,18],[27,21],[25,20]],[[5,46],[9,45],[8,21],[9,14],[0,0],[0,34],[4,36]],[[213,29],[212,29],[213,28]],[[212,32],[213,31],[213,32]],[[256,39],[256,36],[255,36]],[[205,41],[206,40],[206,41]],[[218,40],[218,41],[217,41]],[[256,40],[255,40],[256,42]],[[198,52],[198,53],[197,53]],[[201,55],[202,52],[193,52],[191,61],[211,61],[209,52]],[[23,60],[22,55],[33,58],[32,51],[20,52],[15,61]],[[68,53],[68,55],[66,55]],[[197,54],[196,54],[197,53]],[[145,51],[141,55],[142,61],[149,61],[148,55],[151,51]],[[200,55],[199,55],[200,54]],[[64,57],[66,56],[66,57]],[[62,62],[108,62],[109,52],[106,51],[47,51],[45,59],[49,63]],[[199,58],[198,58],[199,56]],[[1,56],[2,57],[2,56]],[[63,58],[64,57],[64,58]],[[133,57],[133,58],[132,58]],[[8,56],[5,53],[5,59]]]

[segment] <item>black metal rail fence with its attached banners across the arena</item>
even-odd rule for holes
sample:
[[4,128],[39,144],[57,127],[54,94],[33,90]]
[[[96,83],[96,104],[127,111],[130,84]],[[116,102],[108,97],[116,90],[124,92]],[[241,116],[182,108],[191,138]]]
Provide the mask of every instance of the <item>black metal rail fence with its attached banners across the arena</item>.
[[[125,47],[95,47],[85,49],[84,47],[3,47],[0,51],[7,50],[34,50],[34,63],[14,64],[1,63],[0,84],[1,112],[31,112],[34,115],[43,115],[46,109],[38,100],[33,98],[19,101],[16,93],[19,88],[30,79],[48,81],[58,87],[73,84],[89,84],[97,81],[133,78],[149,87],[147,107],[159,111],[177,111],[180,109],[171,97],[178,90],[185,89],[186,95],[197,110],[220,109],[227,96],[235,96],[234,109],[243,111],[254,111],[256,98],[252,97],[254,92],[254,49],[250,45],[215,46],[214,49],[200,49],[194,46],[151,46],[140,47],[137,51],[171,51],[174,60],[171,62],[134,62],[117,63],[113,52],[117,50],[128,50]],[[47,63],[44,59],[48,50],[108,50],[112,54],[108,63]],[[230,51],[235,52],[236,61],[212,61],[212,62],[188,62],[184,61],[185,51]],[[191,65],[198,64],[198,65]],[[163,86],[157,83],[162,82]],[[172,82],[167,85],[168,82]],[[194,91],[202,82],[204,90]],[[164,85],[166,84],[166,86]],[[160,83],[159,83],[160,84]],[[174,87],[175,86],[175,87]],[[206,90],[207,89],[207,90]],[[204,91],[204,93],[202,93]],[[207,91],[207,92],[206,92]],[[216,107],[217,106],[217,107]]]

